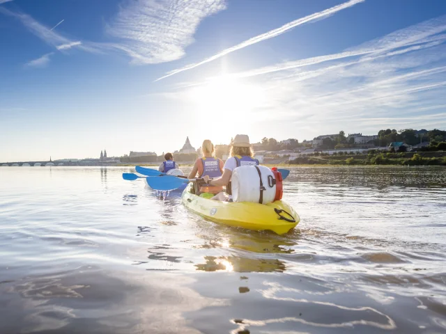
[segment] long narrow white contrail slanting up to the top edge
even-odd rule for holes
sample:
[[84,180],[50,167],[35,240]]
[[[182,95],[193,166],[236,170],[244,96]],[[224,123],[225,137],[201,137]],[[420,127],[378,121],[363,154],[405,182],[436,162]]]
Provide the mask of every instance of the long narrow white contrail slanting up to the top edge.
[[273,29],[271,31],[268,31],[267,33],[262,33],[261,35],[257,35],[253,38],[249,38],[249,40],[245,40],[244,42],[241,42],[238,45],[235,45],[233,47],[229,47],[228,49],[224,49],[223,51],[220,51],[218,54],[215,54],[214,56],[211,56],[209,58],[204,59],[203,61],[200,61],[199,63],[194,63],[192,65],[187,65],[185,67],[179,68],[177,70],[173,70],[171,72],[168,72],[167,75],[164,75],[164,77],[158,78],[156,81],[171,77],[174,74],[184,72],[187,70],[192,70],[192,68],[198,67],[200,65],[210,63],[211,61],[215,61],[218,58],[221,58],[222,56],[225,56],[226,54],[230,54],[233,51],[237,51],[240,49],[243,49],[244,47],[248,47],[249,45],[256,44],[258,42],[262,42],[263,40],[268,40],[270,38],[274,38],[278,35],[282,35],[282,33],[286,33],[286,31],[289,31],[290,29],[295,28],[296,26],[300,26],[301,24],[305,24],[308,22],[316,21],[319,19],[324,19],[326,17],[329,17],[330,15],[333,15],[334,13],[339,12],[339,10],[343,10],[346,8],[349,8],[351,6],[355,6],[357,3],[364,2],[365,0],[350,0],[345,3],[341,3],[338,6],[334,6],[332,8],[328,8],[326,10],[323,10],[318,13],[314,13],[312,15],[307,15],[305,17],[302,17],[300,19],[295,19],[292,22],[289,22],[287,24],[284,24],[283,26]]

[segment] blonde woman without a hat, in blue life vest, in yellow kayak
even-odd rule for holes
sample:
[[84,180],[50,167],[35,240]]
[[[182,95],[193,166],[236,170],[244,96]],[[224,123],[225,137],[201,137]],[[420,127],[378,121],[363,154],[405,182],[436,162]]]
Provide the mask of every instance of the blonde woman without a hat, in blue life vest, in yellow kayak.
[[[209,139],[203,141],[203,145],[201,145],[201,152],[203,153],[203,157],[195,161],[194,167],[192,168],[188,178],[194,179],[197,176],[197,173],[199,177],[222,177],[223,161],[215,158],[215,148]],[[210,186],[209,184],[205,184],[200,187],[201,193],[215,194],[220,193],[222,190],[222,186]]]

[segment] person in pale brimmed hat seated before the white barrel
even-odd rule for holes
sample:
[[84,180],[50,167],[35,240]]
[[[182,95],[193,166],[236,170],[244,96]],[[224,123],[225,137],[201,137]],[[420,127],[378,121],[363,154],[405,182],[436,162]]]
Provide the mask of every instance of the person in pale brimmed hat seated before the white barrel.
[[238,134],[231,143],[231,156],[226,160],[223,167],[222,177],[209,180],[209,176],[205,175],[203,180],[210,186],[226,186],[226,193],[220,192],[214,196],[213,200],[231,200],[231,176],[234,169],[240,166],[256,166],[259,165],[259,160],[254,159],[254,152],[249,143],[249,137],[246,134]]

